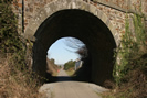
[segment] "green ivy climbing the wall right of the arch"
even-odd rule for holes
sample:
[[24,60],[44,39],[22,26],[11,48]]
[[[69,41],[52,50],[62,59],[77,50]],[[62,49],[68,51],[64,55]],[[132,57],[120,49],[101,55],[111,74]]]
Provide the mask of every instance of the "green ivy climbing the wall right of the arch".
[[[146,32],[144,17],[139,14],[134,14],[132,17],[133,24],[129,21],[128,14],[126,14],[126,24],[125,24],[125,34],[122,36],[122,43],[117,48],[116,58],[113,76],[115,78],[116,85],[118,86],[122,81],[122,78],[127,75],[127,73],[136,67],[132,64],[132,61],[138,55],[144,54],[146,51]],[[130,25],[134,25],[134,29],[130,30]],[[145,65],[139,65],[145,66]]]

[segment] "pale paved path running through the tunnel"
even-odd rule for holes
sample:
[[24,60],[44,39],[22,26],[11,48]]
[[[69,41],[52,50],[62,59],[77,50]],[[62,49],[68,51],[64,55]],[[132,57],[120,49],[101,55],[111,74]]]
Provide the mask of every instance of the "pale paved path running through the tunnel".
[[59,81],[45,84],[40,92],[48,96],[44,98],[102,98],[95,91],[104,91],[105,88],[94,84],[72,81],[64,70],[59,73]]

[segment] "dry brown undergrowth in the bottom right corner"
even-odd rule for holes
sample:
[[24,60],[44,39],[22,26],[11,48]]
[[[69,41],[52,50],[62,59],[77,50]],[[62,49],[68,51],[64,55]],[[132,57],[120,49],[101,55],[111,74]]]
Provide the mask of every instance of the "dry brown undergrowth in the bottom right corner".
[[[147,65],[146,58],[138,64]],[[140,61],[140,59],[139,59]],[[118,87],[104,92],[103,98],[147,98],[147,66],[133,68]]]

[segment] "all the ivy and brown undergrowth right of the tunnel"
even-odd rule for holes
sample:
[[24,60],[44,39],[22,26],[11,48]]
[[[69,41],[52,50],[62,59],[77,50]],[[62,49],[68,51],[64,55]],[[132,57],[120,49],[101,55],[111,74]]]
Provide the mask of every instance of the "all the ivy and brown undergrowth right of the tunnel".
[[[144,18],[134,14],[133,24],[126,19],[126,33],[117,50],[117,62],[113,72],[116,87],[102,96],[104,98],[147,97],[147,34]],[[134,25],[134,30],[130,30]]]

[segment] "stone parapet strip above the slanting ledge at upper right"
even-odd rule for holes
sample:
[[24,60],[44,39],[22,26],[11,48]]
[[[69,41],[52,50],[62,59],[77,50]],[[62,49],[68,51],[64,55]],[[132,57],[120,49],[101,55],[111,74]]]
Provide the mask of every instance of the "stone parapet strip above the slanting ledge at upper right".
[[117,9],[124,12],[140,13],[141,12],[147,18],[147,0],[93,0],[104,6],[108,6],[113,9]]

